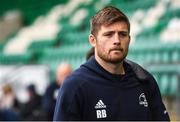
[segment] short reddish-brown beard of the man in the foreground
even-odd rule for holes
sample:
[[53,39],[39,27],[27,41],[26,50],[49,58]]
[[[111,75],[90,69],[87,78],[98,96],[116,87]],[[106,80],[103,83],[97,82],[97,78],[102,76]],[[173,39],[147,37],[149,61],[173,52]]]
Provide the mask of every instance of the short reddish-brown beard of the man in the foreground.
[[[116,52],[113,51],[118,51],[117,52],[118,54],[116,54]],[[122,48],[119,47],[110,49],[108,52],[104,51],[102,48],[97,48],[97,55],[99,56],[99,58],[111,64],[121,63],[126,58],[127,53],[128,53],[128,49],[123,50]]]

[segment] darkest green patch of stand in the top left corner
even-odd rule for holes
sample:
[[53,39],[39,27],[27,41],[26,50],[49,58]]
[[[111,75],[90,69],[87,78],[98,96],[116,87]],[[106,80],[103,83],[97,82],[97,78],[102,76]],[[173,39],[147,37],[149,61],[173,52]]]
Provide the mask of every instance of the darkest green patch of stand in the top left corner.
[[[57,4],[67,3],[69,0],[2,0],[0,7],[0,15],[3,15],[8,10],[18,9],[23,12],[25,23],[31,24],[39,15],[46,14],[50,8]],[[38,11],[37,11],[38,10]]]

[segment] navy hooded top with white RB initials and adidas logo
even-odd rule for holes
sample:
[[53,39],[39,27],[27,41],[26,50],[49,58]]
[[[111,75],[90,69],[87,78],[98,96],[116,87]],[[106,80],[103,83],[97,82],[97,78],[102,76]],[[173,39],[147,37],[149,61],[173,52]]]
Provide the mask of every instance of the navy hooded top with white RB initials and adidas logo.
[[156,81],[125,60],[125,75],[111,74],[94,57],[73,72],[59,90],[54,121],[169,120]]

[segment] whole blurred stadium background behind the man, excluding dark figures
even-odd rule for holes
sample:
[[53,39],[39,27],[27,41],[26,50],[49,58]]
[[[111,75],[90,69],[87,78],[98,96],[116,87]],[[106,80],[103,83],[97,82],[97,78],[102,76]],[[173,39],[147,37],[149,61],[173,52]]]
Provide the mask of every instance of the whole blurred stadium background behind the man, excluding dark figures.
[[[180,0],[1,0],[0,109],[5,93],[25,104],[27,88],[43,96],[60,63],[73,70],[84,63],[89,20],[106,5],[129,17],[127,58],[153,74],[171,120],[180,120]],[[26,120],[14,111],[16,120]]]

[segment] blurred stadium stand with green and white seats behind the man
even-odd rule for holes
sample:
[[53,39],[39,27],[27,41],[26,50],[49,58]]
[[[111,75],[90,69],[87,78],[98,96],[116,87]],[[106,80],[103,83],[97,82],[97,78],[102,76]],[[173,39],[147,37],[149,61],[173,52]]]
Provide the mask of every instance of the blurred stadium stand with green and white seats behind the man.
[[[9,4],[11,3],[11,4]],[[23,12],[24,27],[0,41],[0,64],[45,64],[51,79],[57,65],[76,69],[85,62],[89,19],[105,5],[123,10],[132,25],[128,58],[156,78],[163,97],[176,98],[180,82],[180,2],[178,0],[36,0],[3,1],[0,15]]]

